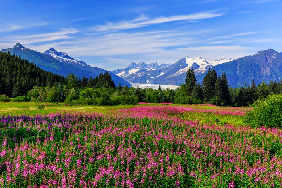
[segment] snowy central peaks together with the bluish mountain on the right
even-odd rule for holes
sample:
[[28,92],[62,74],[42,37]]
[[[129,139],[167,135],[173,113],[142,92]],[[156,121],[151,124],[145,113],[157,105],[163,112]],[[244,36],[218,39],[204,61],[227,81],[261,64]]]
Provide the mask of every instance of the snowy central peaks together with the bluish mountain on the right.
[[[157,64],[157,63],[155,63]],[[142,67],[140,66],[142,65]],[[189,67],[195,71],[197,83],[201,83],[208,69],[214,69],[218,75],[225,72],[232,88],[255,83],[270,83],[282,79],[282,52],[273,49],[259,51],[254,55],[239,59],[220,59],[216,61],[204,60],[200,57],[180,59],[174,64],[162,64],[160,68],[148,67],[149,64],[131,63],[125,69],[111,71],[129,83],[181,85],[185,81]]]

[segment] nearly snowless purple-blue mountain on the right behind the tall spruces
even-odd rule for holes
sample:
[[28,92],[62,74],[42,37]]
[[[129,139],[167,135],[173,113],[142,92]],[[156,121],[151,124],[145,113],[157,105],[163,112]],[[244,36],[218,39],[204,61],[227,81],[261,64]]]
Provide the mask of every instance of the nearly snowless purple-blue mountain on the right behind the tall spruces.
[[[282,55],[281,53],[269,49],[259,51],[252,56],[245,56],[227,63],[218,64],[212,67],[218,75],[225,72],[229,85],[232,88],[251,85],[255,83],[270,83],[282,79]],[[198,75],[198,81],[202,81],[203,75]]]

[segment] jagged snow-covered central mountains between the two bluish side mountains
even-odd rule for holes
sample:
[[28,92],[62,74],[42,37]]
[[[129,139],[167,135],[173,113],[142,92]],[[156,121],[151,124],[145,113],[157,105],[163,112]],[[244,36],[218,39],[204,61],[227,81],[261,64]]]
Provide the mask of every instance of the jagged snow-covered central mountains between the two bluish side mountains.
[[209,61],[200,57],[185,57],[172,65],[161,64],[158,66],[157,63],[131,63],[125,69],[118,69],[111,72],[125,79],[129,83],[180,85],[184,83],[185,75],[189,67],[194,69],[196,75],[200,75],[215,65],[229,62],[231,60],[233,59]]

